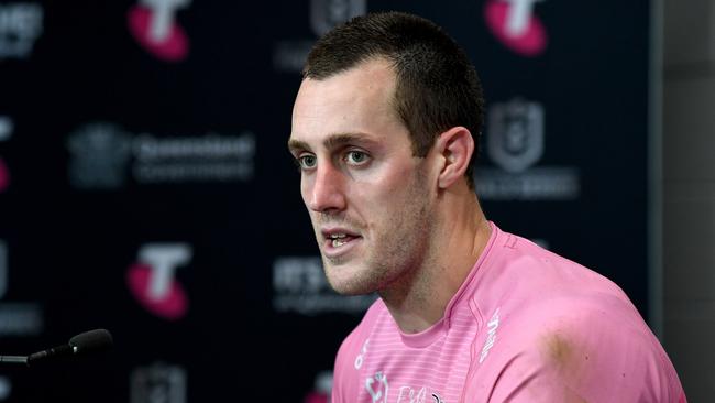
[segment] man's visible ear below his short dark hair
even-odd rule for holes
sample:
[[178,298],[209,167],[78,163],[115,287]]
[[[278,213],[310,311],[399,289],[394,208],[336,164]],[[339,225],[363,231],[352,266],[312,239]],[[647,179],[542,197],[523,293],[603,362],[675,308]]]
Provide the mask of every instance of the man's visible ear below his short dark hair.
[[436,149],[443,161],[438,186],[446,189],[464,176],[474,152],[474,139],[466,128],[458,126],[439,135]]

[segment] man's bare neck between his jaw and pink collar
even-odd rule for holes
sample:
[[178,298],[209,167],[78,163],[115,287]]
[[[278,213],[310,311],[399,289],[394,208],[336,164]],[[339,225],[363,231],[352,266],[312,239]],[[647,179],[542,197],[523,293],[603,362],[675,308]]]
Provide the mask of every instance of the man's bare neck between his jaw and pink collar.
[[378,292],[404,333],[426,330],[444,316],[490,239],[492,229],[479,202],[466,200],[438,211],[421,265]]

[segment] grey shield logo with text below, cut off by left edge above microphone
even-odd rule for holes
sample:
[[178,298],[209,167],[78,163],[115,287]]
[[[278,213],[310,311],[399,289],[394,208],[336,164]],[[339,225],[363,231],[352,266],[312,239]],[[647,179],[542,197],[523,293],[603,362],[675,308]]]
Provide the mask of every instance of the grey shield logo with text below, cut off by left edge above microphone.
[[[0,239],[0,298],[9,290],[9,248]],[[0,303],[0,337],[36,336],[43,330],[42,308],[37,304],[2,302]]]

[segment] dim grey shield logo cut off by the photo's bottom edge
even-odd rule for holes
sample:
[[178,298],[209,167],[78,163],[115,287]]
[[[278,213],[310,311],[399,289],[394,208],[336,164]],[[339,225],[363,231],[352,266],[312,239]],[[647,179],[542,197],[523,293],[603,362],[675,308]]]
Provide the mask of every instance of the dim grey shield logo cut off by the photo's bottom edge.
[[154,363],[131,373],[131,403],[186,403],[186,370],[178,366]]

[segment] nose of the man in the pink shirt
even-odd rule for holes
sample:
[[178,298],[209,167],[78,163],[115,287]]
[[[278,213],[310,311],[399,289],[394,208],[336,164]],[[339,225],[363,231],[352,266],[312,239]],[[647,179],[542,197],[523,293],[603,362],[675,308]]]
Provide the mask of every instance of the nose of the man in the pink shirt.
[[306,190],[306,204],[314,211],[340,211],[345,208],[344,177],[332,164],[318,166]]

